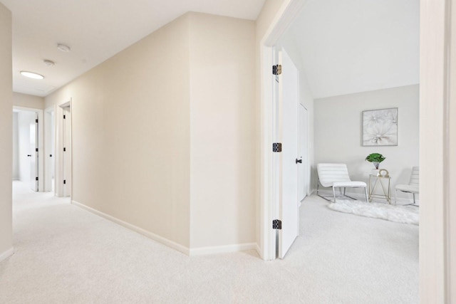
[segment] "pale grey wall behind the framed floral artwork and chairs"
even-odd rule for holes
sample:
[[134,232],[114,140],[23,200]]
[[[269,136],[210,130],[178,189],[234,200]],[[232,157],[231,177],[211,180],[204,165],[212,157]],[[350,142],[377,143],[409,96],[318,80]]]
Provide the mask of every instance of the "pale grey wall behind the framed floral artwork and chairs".
[[[363,110],[385,108],[398,108],[398,146],[361,147]],[[353,180],[367,182],[374,167],[364,159],[373,152],[386,157],[380,168],[390,172],[392,192],[395,184],[408,183],[411,167],[419,164],[419,85],[318,99],[314,120],[315,163],[346,163]]]

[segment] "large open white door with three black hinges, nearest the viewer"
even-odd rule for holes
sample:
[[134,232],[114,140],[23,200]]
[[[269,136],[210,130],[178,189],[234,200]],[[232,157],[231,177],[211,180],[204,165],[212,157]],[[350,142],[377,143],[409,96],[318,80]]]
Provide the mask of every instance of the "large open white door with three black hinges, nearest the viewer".
[[298,236],[298,69],[286,51],[281,51],[279,77],[279,125],[282,143],[279,258],[284,258]]

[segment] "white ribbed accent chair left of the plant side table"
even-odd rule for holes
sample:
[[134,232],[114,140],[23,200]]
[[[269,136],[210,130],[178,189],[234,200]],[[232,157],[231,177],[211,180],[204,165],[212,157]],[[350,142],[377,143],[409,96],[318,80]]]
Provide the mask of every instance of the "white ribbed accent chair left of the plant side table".
[[[331,187],[333,188],[333,202],[335,203],[336,188],[343,188],[343,196],[347,196],[351,199],[355,198],[345,194],[346,188],[364,188],[364,192],[366,193],[366,201],[368,201],[367,184],[365,182],[352,182],[350,176],[348,176],[348,169],[346,164],[317,164],[316,169],[318,172],[316,195],[320,196],[323,199],[326,199],[326,197],[318,194],[319,184],[321,184],[323,187]],[[326,199],[326,201],[331,200]]]

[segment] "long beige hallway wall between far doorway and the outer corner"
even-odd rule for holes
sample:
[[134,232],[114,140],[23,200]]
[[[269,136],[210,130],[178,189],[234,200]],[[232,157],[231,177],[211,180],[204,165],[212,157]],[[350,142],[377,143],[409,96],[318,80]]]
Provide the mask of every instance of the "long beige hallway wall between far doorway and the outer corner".
[[72,100],[73,201],[180,248],[190,246],[188,39],[182,16],[45,106]]

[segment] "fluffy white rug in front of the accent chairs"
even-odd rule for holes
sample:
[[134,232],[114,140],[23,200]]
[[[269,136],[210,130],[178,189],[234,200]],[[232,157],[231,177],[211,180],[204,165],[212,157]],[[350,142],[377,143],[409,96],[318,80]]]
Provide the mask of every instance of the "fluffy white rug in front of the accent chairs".
[[336,203],[328,204],[328,208],[397,223],[414,225],[420,223],[420,211],[415,206],[394,206],[390,204],[366,203],[365,201],[337,200]]

